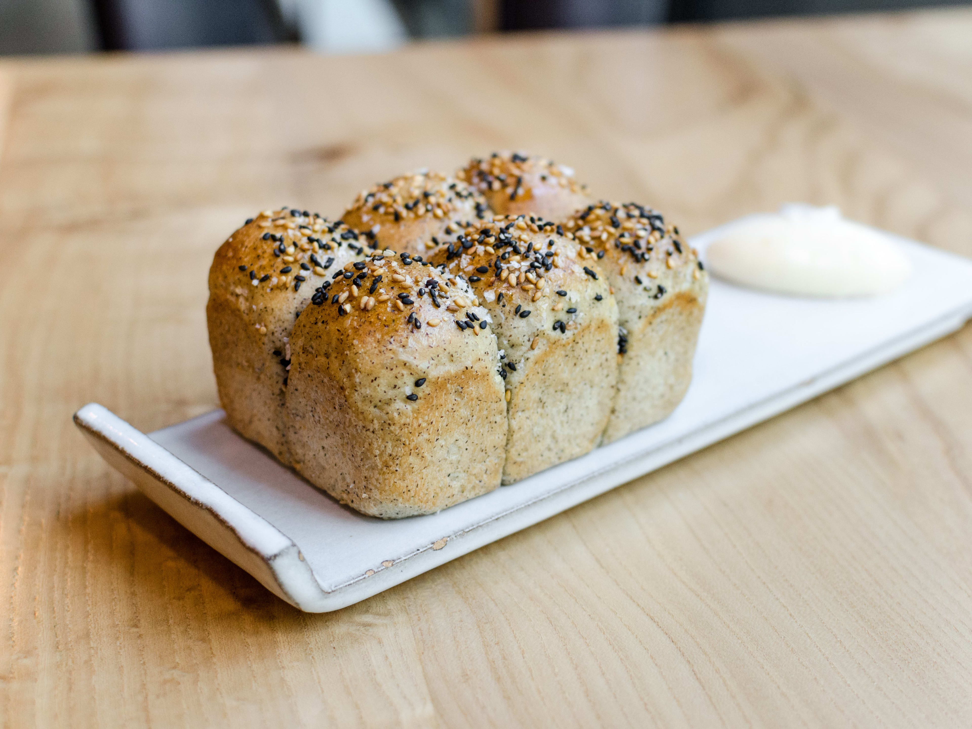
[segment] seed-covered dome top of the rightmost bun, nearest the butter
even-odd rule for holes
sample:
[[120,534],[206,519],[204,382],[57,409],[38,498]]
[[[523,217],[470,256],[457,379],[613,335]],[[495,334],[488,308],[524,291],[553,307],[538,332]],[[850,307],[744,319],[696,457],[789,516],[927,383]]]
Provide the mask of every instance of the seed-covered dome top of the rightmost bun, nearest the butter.
[[611,276],[654,298],[704,276],[698,251],[682,240],[678,227],[637,203],[589,205],[565,221],[564,229],[594,252]]

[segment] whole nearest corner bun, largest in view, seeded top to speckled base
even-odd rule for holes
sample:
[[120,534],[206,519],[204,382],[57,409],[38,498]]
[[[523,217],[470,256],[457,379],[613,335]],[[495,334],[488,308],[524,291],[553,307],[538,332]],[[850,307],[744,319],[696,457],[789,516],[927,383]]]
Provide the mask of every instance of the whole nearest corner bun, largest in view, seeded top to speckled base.
[[300,315],[287,413],[296,470],[399,518],[500,485],[506,403],[489,313],[469,287],[384,254],[347,264]]

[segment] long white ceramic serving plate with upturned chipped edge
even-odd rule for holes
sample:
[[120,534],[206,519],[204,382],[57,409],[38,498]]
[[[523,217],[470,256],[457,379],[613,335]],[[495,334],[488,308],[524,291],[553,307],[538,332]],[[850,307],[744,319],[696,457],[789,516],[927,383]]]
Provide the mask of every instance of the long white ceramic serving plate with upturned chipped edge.
[[[705,251],[745,221],[691,243]],[[148,435],[96,403],[74,419],[110,465],[271,592],[308,612],[344,608],[961,328],[972,262],[883,234],[914,265],[898,291],[812,299],[713,278],[692,385],[667,420],[429,516],[383,521],[336,503],[233,433],[222,410]]]

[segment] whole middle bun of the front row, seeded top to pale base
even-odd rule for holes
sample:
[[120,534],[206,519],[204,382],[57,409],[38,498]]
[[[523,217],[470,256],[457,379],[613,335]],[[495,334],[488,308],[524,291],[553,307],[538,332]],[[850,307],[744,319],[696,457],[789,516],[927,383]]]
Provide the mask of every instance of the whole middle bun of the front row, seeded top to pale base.
[[508,398],[503,483],[594,448],[617,372],[617,306],[594,257],[520,216],[478,226],[431,260],[468,280],[492,317]]

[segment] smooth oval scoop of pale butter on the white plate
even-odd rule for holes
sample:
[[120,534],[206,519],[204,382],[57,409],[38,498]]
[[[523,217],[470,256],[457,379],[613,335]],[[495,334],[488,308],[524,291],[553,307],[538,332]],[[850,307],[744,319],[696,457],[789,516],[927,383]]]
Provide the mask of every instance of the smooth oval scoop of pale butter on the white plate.
[[911,263],[885,236],[836,207],[783,205],[709,246],[712,273],[753,289],[803,296],[873,296],[897,288]]

